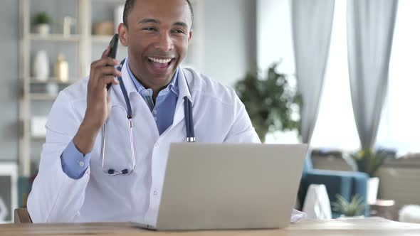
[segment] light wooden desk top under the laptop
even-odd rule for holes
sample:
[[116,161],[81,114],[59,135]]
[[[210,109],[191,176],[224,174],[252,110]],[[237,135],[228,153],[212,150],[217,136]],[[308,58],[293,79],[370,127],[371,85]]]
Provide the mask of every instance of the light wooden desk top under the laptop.
[[280,230],[224,230],[154,232],[130,227],[130,223],[9,224],[0,225],[0,235],[199,235],[199,236],[312,236],[312,235],[420,235],[420,224],[368,218],[354,220],[307,220]]

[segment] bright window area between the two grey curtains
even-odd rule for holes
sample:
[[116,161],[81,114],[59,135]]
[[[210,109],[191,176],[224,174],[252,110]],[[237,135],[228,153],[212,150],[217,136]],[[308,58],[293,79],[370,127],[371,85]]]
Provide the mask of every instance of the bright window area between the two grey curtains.
[[311,146],[352,151],[359,148],[359,136],[350,95],[346,8],[346,1],[335,1],[330,55]]

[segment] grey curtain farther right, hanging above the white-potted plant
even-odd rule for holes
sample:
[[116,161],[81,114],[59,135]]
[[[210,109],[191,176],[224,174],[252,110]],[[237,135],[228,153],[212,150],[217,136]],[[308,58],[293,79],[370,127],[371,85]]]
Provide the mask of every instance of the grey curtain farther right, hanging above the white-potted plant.
[[398,0],[347,1],[350,89],[362,149],[372,148],[387,95]]

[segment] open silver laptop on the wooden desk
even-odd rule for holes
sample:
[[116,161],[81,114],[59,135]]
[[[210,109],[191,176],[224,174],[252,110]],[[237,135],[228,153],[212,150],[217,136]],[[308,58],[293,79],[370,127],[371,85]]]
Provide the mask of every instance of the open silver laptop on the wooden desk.
[[156,225],[149,230],[287,227],[306,144],[171,144]]

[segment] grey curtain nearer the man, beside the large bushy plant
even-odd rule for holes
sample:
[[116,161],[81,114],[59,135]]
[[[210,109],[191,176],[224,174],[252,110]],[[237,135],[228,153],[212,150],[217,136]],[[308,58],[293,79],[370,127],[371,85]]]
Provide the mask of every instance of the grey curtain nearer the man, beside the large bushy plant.
[[315,128],[332,31],[335,0],[292,0],[302,141],[310,143]]

